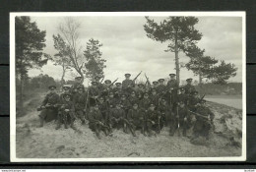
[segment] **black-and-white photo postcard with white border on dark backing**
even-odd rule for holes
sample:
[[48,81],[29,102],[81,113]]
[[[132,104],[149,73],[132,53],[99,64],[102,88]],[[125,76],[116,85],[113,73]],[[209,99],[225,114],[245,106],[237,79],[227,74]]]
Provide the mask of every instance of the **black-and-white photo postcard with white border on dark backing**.
[[11,13],[11,161],[243,161],[245,12]]

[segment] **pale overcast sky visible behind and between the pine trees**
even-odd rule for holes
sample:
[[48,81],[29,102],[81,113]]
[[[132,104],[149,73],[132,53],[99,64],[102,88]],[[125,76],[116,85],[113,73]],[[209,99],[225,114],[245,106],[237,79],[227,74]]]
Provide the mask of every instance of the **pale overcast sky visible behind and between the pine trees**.
[[[151,17],[156,21],[162,21],[165,17]],[[124,79],[125,73],[132,74],[132,79],[140,72],[143,75],[139,81],[144,80],[144,73],[151,82],[160,78],[167,78],[174,71],[174,53],[164,52],[167,42],[160,43],[150,39],[146,35],[143,25],[146,19],[137,17],[76,17],[82,24],[80,29],[81,44],[86,48],[90,38],[98,39],[102,57],[106,60],[104,69],[105,80],[111,81]],[[57,27],[63,17],[32,17],[37,27],[46,30],[46,47],[44,51],[50,55],[56,53],[53,47],[52,35],[57,34]],[[203,33],[198,46],[205,49],[205,55],[216,59],[233,63],[238,68],[237,75],[230,82],[242,81],[242,18],[238,17],[200,17],[196,25]],[[85,49],[84,48],[84,49]],[[179,53],[180,62],[188,62],[189,58]],[[31,70],[30,77],[39,74],[48,74],[54,79],[60,80],[61,68],[51,62],[39,70]],[[191,71],[181,69],[181,80],[193,78],[198,80]],[[66,80],[71,80],[67,75]]]

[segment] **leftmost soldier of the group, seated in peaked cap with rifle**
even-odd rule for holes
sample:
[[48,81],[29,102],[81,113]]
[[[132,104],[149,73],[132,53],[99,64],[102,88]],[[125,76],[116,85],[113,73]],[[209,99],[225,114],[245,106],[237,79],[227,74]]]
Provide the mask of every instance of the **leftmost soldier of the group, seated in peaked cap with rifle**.
[[43,122],[56,120],[58,116],[59,95],[55,92],[56,86],[49,86],[49,93],[46,94],[41,106],[37,110],[41,110],[39,114],[40,127]]

